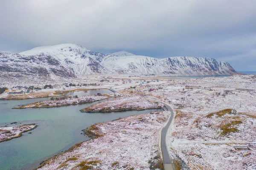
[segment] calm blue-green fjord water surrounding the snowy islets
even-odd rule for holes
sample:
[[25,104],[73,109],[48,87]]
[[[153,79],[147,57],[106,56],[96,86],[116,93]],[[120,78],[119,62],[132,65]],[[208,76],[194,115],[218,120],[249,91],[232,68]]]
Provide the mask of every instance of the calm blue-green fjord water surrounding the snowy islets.
[[[90,90],[84,95],[95,93],[110,93],[107,89]],[[81,94],[74,92],[71,95]],[[0,126],[13,126],[36,123],[39,127],[31,134],[0,143],[0,170],[32,170],[39,166],[41,161],[54,156],[61,151],[89,138],[82,135],[83,129],[98,122],[106,122],[149,112],[129,111],[115,113],[82,113],[79,110],[102,101],[57,108],[41,109],[12,109],[17,105],[29,104],[36,101],[49,100],[49,98],[36,98],[26,100],[0,101]],[[109,99],[106,99],[109,100]],[[21,123],[21,124],[20,124]]]

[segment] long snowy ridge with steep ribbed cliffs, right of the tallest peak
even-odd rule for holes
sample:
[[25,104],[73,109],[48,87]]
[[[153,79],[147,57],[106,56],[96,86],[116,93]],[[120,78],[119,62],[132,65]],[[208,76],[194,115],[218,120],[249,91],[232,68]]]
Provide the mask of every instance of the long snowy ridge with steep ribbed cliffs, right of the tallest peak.
[[104,58],[102,63],[119,74],[233,75],[236,73],[226,62],[198,57],[159,59],[135,55]]

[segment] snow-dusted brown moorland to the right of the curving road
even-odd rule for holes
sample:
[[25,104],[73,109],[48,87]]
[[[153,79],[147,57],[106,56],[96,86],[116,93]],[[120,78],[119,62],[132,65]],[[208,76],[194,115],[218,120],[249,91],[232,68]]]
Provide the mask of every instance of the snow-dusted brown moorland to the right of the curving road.
[[[253,170],[255,86],[255,75],[235,75],[170,81],[153,92],[140,91],[162,98],[175,109],[167,143],[183,169]],[[231,114],[232,109],[237,114]],[[250,150],[235,150],[234,146],[247,146]]]

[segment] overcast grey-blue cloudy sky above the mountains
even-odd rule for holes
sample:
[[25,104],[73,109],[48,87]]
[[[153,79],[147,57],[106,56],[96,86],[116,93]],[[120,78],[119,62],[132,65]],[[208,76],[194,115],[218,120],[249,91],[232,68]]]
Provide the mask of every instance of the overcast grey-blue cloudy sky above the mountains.
[[76,43],[256,71],[256,0],[1,0],[0,51]]

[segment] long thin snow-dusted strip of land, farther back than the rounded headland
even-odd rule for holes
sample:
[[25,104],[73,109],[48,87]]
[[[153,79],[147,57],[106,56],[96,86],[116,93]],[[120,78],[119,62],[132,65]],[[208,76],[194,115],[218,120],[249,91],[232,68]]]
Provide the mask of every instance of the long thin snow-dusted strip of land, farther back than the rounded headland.
[[88,95],[75,98],[57,98],[57,100],[50,101],[39,101],[32,104],[26,104],[19,107],[14,107],[13,109],[27,109],[27,108],[50,108],[50,107],[61,107],[76,104],[85,104],[94,101],[100,101],[110,98],[109,95]]

